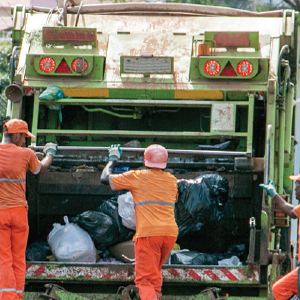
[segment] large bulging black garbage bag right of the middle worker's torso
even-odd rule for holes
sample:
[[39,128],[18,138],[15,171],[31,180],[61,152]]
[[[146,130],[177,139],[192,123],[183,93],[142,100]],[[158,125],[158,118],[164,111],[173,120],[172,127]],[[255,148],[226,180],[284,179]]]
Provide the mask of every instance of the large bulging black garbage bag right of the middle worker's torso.
[[195,180],[178,181],[175,218],[178,238],[200,231],[207,222],[217,223],[224,216],[228,200],[228,180],[218,174],[205,174]]

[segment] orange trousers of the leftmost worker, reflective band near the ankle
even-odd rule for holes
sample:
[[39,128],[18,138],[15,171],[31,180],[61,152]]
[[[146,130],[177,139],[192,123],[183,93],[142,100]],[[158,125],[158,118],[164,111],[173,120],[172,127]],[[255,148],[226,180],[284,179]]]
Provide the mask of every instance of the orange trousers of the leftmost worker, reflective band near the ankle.
[[28,231],[25,207],[0,209],[0,300],[23,299]]

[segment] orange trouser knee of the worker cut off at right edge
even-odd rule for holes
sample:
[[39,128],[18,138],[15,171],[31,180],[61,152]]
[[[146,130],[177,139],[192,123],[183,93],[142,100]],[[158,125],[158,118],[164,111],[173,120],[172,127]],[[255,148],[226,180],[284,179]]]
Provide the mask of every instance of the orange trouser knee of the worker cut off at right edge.
[[299,267],[295,268],[273,284],[275,300],[287,300],[293,295],[298,295],[298,269]]

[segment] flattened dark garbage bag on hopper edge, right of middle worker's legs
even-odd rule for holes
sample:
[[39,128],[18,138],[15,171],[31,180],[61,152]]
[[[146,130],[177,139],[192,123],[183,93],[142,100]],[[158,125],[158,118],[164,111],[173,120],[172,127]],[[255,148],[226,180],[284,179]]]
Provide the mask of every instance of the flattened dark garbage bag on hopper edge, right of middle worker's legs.
[[171,255],[171,264],[179,265],[217,265],[218,258],[214,254],[197,251],[181,251]]

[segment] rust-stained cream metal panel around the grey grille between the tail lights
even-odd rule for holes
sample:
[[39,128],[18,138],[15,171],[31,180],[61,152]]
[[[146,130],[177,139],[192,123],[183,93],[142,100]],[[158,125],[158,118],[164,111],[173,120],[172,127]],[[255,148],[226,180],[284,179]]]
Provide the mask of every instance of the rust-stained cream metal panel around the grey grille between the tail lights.
[[[142,25],[143,23],[140,22]],[[174,51],[176,49],[176,51]],[[140,57],[145,54],[154,57],[174,57],[174,73],[171,75],[151,75],[156,82],[188,82],[190,55],[192,52],[191,37],[186,35],[173,35],[168,33],[143,33],[121,35],[112,33],[109,37],[105,80],[110,82],[121,82],[122,80],[136,80],[136,75],[120,74],[120,57]],[[139,78],[143,77],[141,75]],[[108,87],[110,85],[108,84]]]

